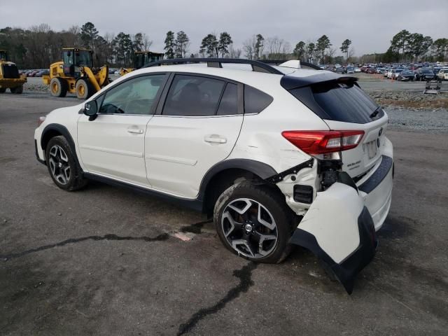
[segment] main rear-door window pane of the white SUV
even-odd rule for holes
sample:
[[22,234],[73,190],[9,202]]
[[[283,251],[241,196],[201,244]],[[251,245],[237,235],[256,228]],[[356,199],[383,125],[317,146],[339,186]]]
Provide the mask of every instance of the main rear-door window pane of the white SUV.
[[215,116],[225,82],[214,78],[176,75],[165,100],[164,116]]

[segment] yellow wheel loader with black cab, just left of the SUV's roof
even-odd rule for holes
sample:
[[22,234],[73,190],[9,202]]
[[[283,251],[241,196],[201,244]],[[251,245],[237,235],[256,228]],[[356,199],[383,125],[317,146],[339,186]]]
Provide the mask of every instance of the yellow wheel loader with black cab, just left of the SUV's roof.
[[62,49],[62,61],[51,64],[50,75],[42,77],[53,97],[65,97],[69,92],[87,99],[109,84],[109,66],[94,69],[92,55],[92,50]]

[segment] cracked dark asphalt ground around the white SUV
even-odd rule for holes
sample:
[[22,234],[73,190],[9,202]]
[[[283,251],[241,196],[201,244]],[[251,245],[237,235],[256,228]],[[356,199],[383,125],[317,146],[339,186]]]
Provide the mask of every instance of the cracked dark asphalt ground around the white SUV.
[[255,265],[193,211],[100,183],[59,190],[35,159],[33,131],[38,116],[78,103],[0,96],[1,334],[446,332],[446,117],[440,132],[388,130],[393,205],[349,296],[302,249]]

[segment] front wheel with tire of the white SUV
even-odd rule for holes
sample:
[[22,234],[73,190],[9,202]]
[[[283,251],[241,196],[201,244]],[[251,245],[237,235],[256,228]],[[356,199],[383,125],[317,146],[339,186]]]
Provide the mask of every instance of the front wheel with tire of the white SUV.
[[62,135],[48,141],[45,150],[48,172],[56,186],[67,191],[78,190],[87,185],[75,155],[69,141]]

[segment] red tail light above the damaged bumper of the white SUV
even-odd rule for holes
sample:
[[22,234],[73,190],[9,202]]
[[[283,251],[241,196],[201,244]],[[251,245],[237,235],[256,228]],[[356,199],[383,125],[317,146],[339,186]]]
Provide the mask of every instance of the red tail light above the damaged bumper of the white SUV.
[[318,155],[355,148],[364,131],[284,131],[281,135],[305,153]]

